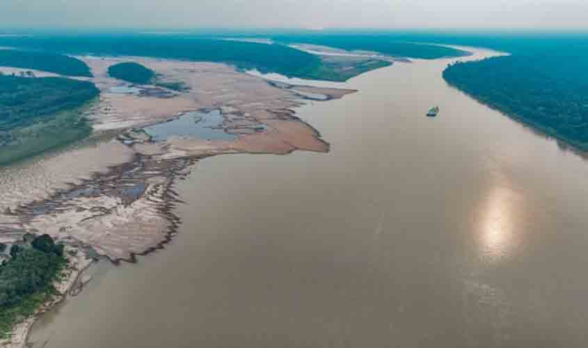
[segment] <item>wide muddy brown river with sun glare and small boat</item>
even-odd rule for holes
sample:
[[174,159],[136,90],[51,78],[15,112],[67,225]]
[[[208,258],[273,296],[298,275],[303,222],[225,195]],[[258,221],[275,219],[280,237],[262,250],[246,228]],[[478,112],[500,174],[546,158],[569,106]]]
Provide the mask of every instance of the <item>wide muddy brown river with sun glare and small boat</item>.
[[298,109],[328,154],[201,161],[177,187],[179,235],[98,264],[31,341],[587,347],[588,162],[447,86],[449,62],[397,63]]

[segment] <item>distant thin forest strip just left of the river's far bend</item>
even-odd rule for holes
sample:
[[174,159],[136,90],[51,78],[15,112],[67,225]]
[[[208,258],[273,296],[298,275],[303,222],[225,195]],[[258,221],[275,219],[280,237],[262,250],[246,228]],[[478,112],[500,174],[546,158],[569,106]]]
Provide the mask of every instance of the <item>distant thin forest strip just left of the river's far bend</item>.
[[358,34],[312,34],[312,35],[274,35],[278,42],[289,44],[306,43],[346,49],[348,51],[372,51],[390,56],[435,59],[441,57],[465,56],[468,53],[459,49],[437,45],[425,45],[415,42],[405,42],[388,35],[358,35]]

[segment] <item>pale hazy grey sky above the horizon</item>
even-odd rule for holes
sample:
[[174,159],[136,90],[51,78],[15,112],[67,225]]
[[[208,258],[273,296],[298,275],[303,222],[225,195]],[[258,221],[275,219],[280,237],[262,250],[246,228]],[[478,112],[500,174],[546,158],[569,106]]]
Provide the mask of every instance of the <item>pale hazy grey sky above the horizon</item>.
[[0,0],[0,27],[588,29],[588,0]]

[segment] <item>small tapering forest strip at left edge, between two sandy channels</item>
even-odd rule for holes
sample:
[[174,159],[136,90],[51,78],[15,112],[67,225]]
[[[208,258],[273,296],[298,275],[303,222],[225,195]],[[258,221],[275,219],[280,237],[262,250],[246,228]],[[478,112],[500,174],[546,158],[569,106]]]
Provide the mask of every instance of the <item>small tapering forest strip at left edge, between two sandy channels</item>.
[[67,76],[92,77],[86,63],[62,54],[0,49],[0,66],[42,70]]

